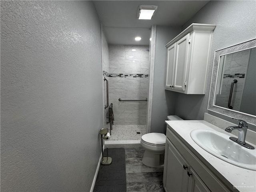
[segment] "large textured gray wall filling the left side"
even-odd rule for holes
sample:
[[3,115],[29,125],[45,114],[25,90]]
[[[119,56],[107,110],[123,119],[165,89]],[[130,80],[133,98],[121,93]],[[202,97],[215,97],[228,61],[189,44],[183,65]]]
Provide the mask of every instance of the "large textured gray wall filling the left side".
[[1,1],[1,190],[89,191],[103,126],[89,1]]

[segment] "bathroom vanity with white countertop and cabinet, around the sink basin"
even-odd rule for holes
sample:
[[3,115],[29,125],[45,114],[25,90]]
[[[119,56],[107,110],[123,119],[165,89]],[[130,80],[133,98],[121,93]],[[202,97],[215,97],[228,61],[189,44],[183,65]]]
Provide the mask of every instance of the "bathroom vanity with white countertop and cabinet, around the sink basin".
[[163,178],[166,192],[256,190],[256,171],[235,166],[206,152],[194,142],[190,132],[204,129],[234,135],[204,120],[166,121],[166,124]]

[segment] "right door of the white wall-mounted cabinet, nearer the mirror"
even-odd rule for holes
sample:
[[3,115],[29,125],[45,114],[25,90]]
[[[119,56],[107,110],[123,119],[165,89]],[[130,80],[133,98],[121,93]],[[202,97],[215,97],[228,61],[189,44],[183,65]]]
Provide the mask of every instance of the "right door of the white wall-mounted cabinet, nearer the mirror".
[[174,70],[174,89],[185,90],[186,69],[188,63],[189,34],[177,42]]

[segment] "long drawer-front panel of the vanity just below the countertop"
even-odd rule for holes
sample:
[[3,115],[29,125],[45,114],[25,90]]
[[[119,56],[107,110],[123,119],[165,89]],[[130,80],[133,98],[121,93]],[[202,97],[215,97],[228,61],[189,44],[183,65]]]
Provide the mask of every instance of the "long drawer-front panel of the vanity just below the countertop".
[[231,184],[228,189],[226,185],[220,181],[220,179],[214,175],[214,173],[209,170],[206,165],[201,162],[181,141],[178,139],[171,131],[170,127],[167,126],[166,129],[166,137],[172,142],[175,148],[180,152],[180,154],[184,157],[184,159],[190,164],[190,166],[194,169],[196,174],[202,179],[204,184],[212,191],[237,191],[233,189]]

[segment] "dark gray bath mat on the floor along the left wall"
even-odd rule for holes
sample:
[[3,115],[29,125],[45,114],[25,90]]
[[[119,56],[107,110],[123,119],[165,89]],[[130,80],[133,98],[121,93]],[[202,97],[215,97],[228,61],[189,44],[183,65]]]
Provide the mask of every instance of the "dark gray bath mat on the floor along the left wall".
[[125,150],[110,148],[108,156],[112,158],[112,164],[100,165],[93,192],[126,192]]

